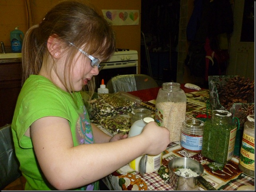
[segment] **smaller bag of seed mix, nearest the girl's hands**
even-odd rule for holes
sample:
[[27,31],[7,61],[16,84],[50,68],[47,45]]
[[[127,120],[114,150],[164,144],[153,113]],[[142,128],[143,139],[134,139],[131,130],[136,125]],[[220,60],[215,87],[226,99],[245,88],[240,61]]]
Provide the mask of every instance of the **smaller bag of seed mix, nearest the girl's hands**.
[[100,120],[100,124],[112,135],[128,134],[131,128],[130,115],[114,115]]

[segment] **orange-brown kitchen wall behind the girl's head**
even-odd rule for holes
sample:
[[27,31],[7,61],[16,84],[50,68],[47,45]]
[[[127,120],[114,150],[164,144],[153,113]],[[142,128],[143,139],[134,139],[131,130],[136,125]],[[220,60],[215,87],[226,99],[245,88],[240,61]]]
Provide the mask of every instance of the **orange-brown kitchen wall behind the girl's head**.
[[[141,0],[81,1],[93,4],[101,15],[102,9],[139,10],[141,12]],[[25,34],[29,26],[39,23],[45,13],[57,2],[59,0],[0,0],[0,41],[3,41],[6,46],[10,46],[10,31],[19,26],[19,30]],[[28,14],[27,6],[32,8],[33,14],[31,12]],[[113,29],[116,31],[116,48],[137,50],[140,65],[140,23],[139,25],[113,26]]]

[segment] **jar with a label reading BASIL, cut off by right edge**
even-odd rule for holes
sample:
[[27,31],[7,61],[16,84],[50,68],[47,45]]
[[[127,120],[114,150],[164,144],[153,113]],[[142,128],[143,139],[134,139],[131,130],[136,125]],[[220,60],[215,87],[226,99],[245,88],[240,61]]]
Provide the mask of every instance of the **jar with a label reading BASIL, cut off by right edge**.
[[244,123],[238,167],[254,178],[254,115],[248,115]]

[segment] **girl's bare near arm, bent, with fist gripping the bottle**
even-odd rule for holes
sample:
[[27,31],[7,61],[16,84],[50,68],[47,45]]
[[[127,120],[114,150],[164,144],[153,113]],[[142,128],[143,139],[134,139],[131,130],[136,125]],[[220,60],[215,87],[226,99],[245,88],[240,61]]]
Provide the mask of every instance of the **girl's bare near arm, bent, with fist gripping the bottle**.
[[[170,142],[168,129],[155,122],[146,127],[138,136],[76,147],[68,121],[61,117],[38,119],[31,125],[30,133],[45,177],[58,190],[67,190],[99,180],[136,157],[163,152]],[[101,134],[95,132],[95,136]]]

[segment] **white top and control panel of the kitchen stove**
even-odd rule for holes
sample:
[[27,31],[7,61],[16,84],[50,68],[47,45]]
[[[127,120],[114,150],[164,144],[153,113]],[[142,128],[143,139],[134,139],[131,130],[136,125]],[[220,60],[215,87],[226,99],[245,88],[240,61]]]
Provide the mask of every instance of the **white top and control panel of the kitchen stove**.
[[[103,69],[114,69],[123,67],[137,67],[138,68],[138,52],[129,49],[116,49],[111,58],[101,63],[104,65]],[[138,69],[136,70],[138,73]]]

